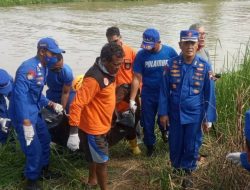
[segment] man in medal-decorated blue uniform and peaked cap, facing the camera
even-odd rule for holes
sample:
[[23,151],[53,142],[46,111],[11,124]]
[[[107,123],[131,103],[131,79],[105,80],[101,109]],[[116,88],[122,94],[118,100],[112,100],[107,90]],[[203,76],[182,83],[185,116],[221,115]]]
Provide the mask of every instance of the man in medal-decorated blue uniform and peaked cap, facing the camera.
[[196,55],[198,35],[194,30],[181,31],[182,52],[164,69],[158,109],[161,124],[169,126],[171,164],[187,174],[197,166],[202,126],[207,131],[216,120],[211,65]]

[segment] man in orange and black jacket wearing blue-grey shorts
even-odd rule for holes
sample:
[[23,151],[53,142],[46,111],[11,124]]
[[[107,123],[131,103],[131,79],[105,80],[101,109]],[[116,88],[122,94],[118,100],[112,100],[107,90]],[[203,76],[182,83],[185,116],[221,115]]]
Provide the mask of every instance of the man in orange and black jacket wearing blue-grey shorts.
[[[88,186],[99,184],[107,190],[108,142],[115,109],[115,75],[123,62],[124,52],[116,43],[103,46],[101,56],[86,72],[82,86],[69,110],[68,147],[79,146],[89,162]],[[78,131],[79,128],[79,131]],[[79,132],[79,137],[77,132]]]

